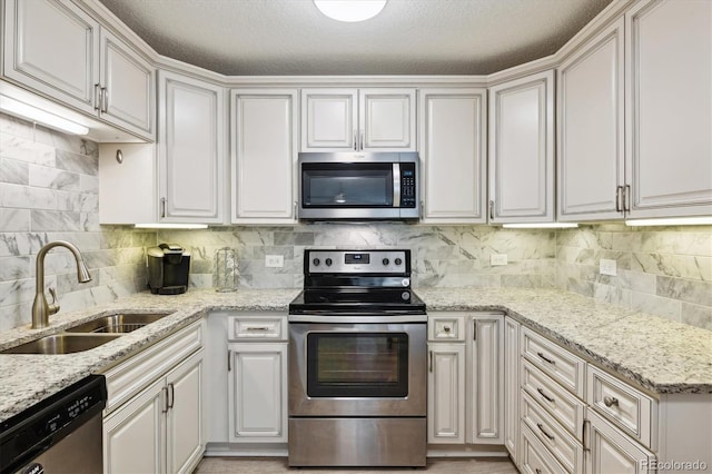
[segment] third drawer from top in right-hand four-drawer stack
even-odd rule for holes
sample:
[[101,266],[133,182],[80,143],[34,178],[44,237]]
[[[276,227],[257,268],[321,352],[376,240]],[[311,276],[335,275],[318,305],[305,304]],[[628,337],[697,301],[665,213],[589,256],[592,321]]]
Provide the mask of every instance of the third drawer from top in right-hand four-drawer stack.
[[583,472],[583,445],[551,417],[537,402],[522,394],[522,422],[570,473]]

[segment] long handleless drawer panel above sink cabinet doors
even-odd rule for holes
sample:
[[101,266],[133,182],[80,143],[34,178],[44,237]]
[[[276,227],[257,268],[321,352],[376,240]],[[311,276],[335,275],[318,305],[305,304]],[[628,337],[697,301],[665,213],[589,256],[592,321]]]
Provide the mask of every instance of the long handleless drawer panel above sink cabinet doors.
[[199,320],[107,371],[109,399],[105,413],[110,413],[201,348],[202,337],[202,320]]

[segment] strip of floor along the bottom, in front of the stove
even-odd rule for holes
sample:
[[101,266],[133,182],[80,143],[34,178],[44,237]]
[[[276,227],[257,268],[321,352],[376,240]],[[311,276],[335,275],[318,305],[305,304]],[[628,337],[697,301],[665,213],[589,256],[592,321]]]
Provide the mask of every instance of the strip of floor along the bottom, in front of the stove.
[[194,474],[214,473],[299,473],[299,474],[374,474],[398,472],[417,473],[426,471],[428,473],[452,473],[452,474],[517,474],[516,467],[508,458],[428,458],[425,468],[349,468],[337,470],[329,467],[320,468],[289,468],[286,457],[204,457]]

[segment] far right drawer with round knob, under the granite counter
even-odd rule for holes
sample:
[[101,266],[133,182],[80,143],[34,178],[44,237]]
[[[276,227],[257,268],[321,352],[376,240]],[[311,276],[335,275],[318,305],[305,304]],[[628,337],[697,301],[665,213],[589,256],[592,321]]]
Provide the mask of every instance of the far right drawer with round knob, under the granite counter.
[[644,446],[653,448],[657,402],[597,367],[587,368],[586,403]]

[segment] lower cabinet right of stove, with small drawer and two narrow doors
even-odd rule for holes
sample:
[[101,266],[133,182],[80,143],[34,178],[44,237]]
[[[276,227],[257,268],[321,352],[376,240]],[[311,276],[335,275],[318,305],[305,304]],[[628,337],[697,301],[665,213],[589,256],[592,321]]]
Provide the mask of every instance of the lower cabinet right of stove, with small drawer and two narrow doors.
[[429,315],[428,443],[503,443],[503,322],[498,313]]

